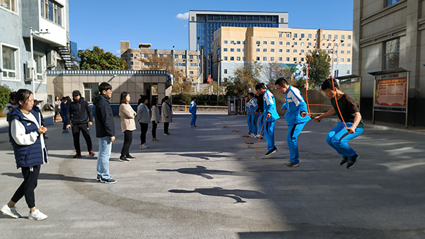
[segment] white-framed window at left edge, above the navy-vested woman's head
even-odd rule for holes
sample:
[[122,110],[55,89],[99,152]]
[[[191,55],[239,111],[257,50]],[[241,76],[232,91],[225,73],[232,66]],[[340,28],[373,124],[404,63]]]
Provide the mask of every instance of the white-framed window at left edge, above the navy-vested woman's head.
[[1,62],[1,71],[3,78],[17,79],[19,73],[18,48],[1,45]]

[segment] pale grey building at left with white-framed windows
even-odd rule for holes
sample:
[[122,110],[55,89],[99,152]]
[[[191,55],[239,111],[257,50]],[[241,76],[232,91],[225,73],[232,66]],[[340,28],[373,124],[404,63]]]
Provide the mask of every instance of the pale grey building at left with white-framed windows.
[[52,95],[47,98],[47,69],[66,69],[72,64],[68,9],[68,0],[0,1],[1,84],[13,91],[35,90],[35,98],[42,104],[52,100]]

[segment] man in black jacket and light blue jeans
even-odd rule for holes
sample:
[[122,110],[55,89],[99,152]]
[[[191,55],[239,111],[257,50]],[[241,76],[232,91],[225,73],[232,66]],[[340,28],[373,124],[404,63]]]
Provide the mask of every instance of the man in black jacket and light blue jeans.
[[107,82],[101,83],[99,93],[94,98],[96,137],[99,139],[97,180],[104,183],[115,183],[117,181],[109,175],[109,158],[111,158],[112,142],[115,141],[115,124],[111,105],[109,105],[112,86]]

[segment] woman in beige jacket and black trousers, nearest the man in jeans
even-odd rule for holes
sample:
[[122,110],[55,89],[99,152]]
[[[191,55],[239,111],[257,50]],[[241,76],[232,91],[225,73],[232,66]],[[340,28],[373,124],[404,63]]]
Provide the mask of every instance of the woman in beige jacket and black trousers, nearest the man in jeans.
[[135,158],[130,155],[130,145],[132,142],[132,132],[136,129],[136,112],[130,105],[130,93],[122,92],[120,95],[121,131],[124,133],[124,144],[121,149],[120,161],[129,161],[129,158]]

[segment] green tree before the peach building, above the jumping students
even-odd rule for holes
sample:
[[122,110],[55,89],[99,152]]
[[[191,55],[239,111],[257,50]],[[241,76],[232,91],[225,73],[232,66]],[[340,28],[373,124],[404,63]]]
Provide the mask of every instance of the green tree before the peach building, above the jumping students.
[[321,86],[323,81],[329,78],[331,74],[331,59],[327,52],[314,51],[312,54],[305,54],[307,62],[310,62],[312,56],[308,80],[310,84],[314,83],[314,86]]

